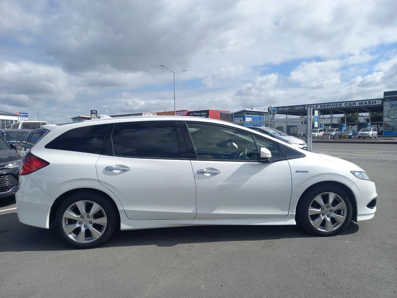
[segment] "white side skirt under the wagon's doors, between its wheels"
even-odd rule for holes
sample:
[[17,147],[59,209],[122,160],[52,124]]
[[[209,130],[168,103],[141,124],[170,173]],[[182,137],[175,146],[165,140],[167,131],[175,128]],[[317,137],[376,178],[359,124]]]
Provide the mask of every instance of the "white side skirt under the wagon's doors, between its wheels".
[[131,220],[120,212],[121,230],[139,230],[150,228],[170,228],[176,226],[210,226],[210,225],[294,225],[295,212],[289,212],[283,218],[251,218],[251,219],[159,219]]

